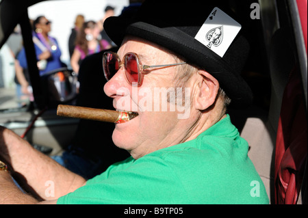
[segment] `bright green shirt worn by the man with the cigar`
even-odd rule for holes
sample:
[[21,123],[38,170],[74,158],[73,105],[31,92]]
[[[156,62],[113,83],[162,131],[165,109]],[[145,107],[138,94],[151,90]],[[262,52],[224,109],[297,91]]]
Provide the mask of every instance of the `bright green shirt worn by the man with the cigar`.
[[268,204],[229,115],[196,139],[111,165],[57,204]]

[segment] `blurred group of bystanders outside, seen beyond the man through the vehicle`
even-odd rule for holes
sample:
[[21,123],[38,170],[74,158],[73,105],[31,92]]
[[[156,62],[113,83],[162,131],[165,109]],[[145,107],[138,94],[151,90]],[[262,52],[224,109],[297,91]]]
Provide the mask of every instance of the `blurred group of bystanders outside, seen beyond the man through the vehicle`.
[[[70,54],[70,66],[61,61],[62,51],[57,39],[49,35],[51,21],[44,15],[31,20],[32,36],[40,76],[63,67],[72,68],[73,72],[78,75],[79,66],[86,56],[115,46],[103,29],[103,22],[109,16],[114,16],[114,9],[114,7],[107,5],[104,10],[104,16],[100,21],[86,21],[83,14],[77,14],[74,27],[71,29],[68,38],[67,49]],[[18,98],[18,105],[22,107],[29,100],[33,100],[33,96],[27,70],[25,48],[23,47],[23,39],[19,27],[14,29],[14,33],[8,39],[7,44],[14,57],[16,96]]]

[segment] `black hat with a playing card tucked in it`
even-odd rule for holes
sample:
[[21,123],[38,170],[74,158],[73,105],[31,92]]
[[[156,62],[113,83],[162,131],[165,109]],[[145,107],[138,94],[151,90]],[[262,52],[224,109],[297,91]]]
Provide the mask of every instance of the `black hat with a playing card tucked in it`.
[[[121,16],[107,18],[104,29],[118,46],[125,36],[131,35],[149,40],[181,55],[186,62],[211,73],[231,98],[231,105],[242,107],[250,105],[253,100],[250,87],[240,76],[249,52],[249,44],[242,36],[244,28],[240,29],[222,57],[195,39],[214,8],[218,8],[240,23],[227,2],[146,0],[133,18],[127,19]],[[222,26],[220,23],[217,25],[217,27]],[[220,36],[219,40],[222,41],[224,38]]]

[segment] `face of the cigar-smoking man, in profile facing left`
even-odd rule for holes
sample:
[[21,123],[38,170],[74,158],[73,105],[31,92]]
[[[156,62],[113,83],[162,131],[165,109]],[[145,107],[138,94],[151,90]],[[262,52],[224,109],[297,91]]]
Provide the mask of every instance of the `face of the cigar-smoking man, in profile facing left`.
[[[125,38],[118,50],[121,61],[129,52],[138,54],[140,62],[145,65],[175,64],[175,59],[166,51],[139,38]],[[179,111],[183,111],[183,107],[174,103],[175,98],[170,97],[167,101],[167,98],[162,99],[162,96],[166,96],[164,90],[176,90],[177,67],[153,68],[145,72],[142,85],[137,87],[127,82],[122,67],[104,87],[107,96],[114,98],[113,105],[117,110],[139,113],[129,122],[116,124],[112,135],[114,144],[128,150],[135,159],[160,148],[179,144],[188,135],[190,127],[189,114],[187,118],[179,119]],[[159,91],[162,94],[157,93]],[[188,103],[185,106],[190,107],[190,99],[186,100]]]

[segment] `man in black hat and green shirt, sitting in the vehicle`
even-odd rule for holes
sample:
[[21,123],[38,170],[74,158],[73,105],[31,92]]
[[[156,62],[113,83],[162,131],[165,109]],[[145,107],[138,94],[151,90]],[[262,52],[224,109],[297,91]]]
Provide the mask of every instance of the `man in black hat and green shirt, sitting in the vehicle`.
[[[1,130],[0,159],[45,203],[268,204],[248,144],[226,114],[230,101],[251,103],[239,76],[248,45],[231,16],[223,1],[146,1],[132,20],[105,21],[120,48],[103,55],[104,91],[117,110],[138,113],[116,124],[112,135],[129,159],[86,181],[8,129]],[[217,28],[220,42],[209,48]],[[3,203],[37,202],[18,191],[8,172],[1,171],[0,180]]]

